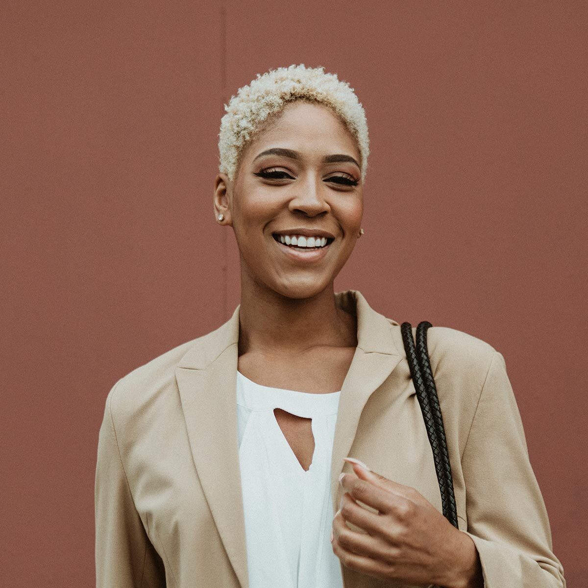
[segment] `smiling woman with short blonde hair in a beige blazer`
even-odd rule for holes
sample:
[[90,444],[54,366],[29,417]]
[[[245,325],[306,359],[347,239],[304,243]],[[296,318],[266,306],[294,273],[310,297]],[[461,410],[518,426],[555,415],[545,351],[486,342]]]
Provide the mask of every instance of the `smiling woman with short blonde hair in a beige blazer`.
[[565,587],[503,356],[429,329],[456,529],[399,323],[333,290],[363,233],[353,90],[292,65],[226,111],[213,205],[240,305],[109,393],[97,586]]

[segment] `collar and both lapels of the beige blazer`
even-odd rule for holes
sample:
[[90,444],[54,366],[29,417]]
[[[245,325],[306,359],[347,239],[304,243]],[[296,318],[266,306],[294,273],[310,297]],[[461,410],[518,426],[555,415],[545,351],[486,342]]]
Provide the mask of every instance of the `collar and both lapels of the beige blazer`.
[[[335,303],[357,314],[358,346],[339,397],[330,472],[333,512],[343,457],[349,455],[363,407],[403,358],[391,328],[399,323],[373,310],[358,290],[335,293]],[[195,340],[175,375],[198,478],[235,574],[249,588],[236,410],[239,309]]]

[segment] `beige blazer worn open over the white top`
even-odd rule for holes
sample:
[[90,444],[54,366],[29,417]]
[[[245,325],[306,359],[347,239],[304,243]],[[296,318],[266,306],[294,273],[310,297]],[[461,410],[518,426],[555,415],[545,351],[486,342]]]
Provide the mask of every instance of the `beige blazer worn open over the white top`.
[[[415,487],[442,512],[400,325],[357,290],[335,296],[357,313],[358,346],[340,395],[333,512],[339,474],[352,472],[346,456]],[[95,477],[98,588],[248,588],[239,308],[213,332],[122,377],[106,397]],[[486,588],[565,588],[503,356],[459,330],[434,326],[427,335],[459,529],[477,547]],[[406,586],[341,569],[346,588]]]

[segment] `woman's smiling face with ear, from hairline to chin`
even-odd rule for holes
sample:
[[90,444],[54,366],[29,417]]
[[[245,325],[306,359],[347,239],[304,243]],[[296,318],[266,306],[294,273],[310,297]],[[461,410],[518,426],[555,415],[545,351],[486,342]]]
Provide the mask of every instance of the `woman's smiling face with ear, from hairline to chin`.
[[[222,212],[235,232],[242,288],[288,298],[332,289],[358,240],[359,162],[353,136],[328,107],[296,101],[246,146],[232,182],[217,176],[215,216]],[[326,245],[300,248],[313,236]]]

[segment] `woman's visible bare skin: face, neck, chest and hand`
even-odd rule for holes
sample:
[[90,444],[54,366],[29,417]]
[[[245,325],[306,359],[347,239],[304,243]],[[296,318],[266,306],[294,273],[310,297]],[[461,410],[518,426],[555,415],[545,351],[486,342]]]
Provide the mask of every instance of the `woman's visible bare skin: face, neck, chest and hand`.
[[[258,158],[270,148],[296,151],[298,159]],[[358,163],[323,162],[334,154]],[[240,254],[238,369],[261,385],[317,394],[336,392],[343,385],[357,346],[357,322],[336,306],[333,284],[359,238],[360,162],[355,139],[335,113],[324,105],[296,101],[272,117],[245,146],[232,181],[224,173],[216,176],[215,219],[220,213],[225,216],[220,223],[232,227]],[[277,179],[255,175],[263,170],[282,173],[276,174]],[[357,185],[345,183],[349,179]],[[272,237],[273,231],[298,227],[323,229],[335,236],[322,259],[293,260]],[[308,469],[314,449],[310,419],[281,411],[276,412],[276,420],[300,464]],[[354,471],[355,475],[343,476],[347,492],[333,518],[333,552],[343,564],[405,583],[483,586],[477,550],[467,534],[416,490],[371,472],[361,477],[363,470],[358,472],[355,466]],[[353,498],[359,493],[369,504],[365,499],[372,495],[367,489],[377,491],[389,506],[405,496],[399,512],[410,516],[398,519],[392,506],[386,516],[370,513]],[[366,532],[353,532],[347,520],[358,527],[363,524]]]

